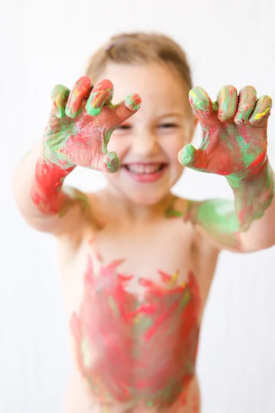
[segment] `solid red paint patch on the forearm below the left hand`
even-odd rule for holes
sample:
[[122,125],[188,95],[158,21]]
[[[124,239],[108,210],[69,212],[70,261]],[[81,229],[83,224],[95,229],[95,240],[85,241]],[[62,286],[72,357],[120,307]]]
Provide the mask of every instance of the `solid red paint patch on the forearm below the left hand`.
[[31,198],[36,207],[45,214],[56,214],[66,207],[67,197],[61,192],[65,177],[74,169],[62,169],[41,158],[35,169]]

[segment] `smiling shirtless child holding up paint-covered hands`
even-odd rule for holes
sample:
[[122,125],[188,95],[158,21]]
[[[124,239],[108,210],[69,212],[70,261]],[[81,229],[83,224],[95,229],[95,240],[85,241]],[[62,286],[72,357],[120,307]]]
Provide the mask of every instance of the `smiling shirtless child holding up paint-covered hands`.
[[[224,86],[214,103],[190,89],[174,41],[115,36],[72,91],[54,87],[43,141],[14,174],[23,217],[58,240],[76,359],[66,413],[199,412],[199,328],[219,251],[275,243],[272,100],[252,86]],[[235,202],[175,197],[183,165],[225,176]],[[76,166],[102,171],[107,187],[65,188]]]

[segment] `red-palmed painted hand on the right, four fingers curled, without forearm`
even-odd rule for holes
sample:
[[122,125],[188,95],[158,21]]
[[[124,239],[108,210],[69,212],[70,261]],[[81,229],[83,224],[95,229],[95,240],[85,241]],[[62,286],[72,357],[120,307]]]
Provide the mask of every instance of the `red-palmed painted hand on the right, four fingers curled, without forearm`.
[[199,149],[186,145],[179,162],[197,171],[226,176],[233,186],[255,176],[267,164],[267,119],[270,96],[256,98],[252,86],[221,88],[211,102],[201,87],[190,90],[189,101],[202,131]]

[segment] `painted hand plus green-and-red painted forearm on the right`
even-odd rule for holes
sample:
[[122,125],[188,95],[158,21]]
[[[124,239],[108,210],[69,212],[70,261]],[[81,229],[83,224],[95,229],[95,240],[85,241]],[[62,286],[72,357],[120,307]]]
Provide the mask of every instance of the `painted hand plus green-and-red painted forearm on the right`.
[[274,196],[274,178],[267,158],[267,120],[270,96],[256,99],[252,86],[221,88],[212,103],[201,87],[189,94],[190,105],[201,125],[198,149],[186,145],[179,162],[197,171],[225,176],[235,195],[240,230],[263,216]]

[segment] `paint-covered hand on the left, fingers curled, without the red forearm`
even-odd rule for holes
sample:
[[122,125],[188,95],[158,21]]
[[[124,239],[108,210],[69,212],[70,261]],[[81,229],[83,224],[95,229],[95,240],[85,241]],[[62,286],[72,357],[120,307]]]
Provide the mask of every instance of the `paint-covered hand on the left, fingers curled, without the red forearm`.
[[45,159],[62,169],[75,166],[115,172],[120,167],[117,153],[107,145],[113,130],[137,112],[137,94],[112,105],[113,85],[102,80],[92,85],[81,77],[72,91],[56,85],[52,110],[43,136]]

